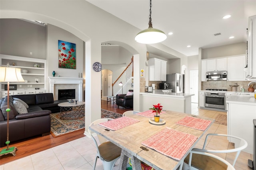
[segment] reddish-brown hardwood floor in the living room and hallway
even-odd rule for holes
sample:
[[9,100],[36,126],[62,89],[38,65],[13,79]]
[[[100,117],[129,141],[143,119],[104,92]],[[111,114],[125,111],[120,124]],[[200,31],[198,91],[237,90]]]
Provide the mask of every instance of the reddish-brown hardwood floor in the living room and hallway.
[[[124,111],[132,110],[132,108],[124,108],[124,107],[117,107],[116,103],[109,103],[107,104],[106,100],[102,100],[101,108],[113,111],[115,113],[123,114]],[[64,143],[73,141],[75,139],[79,139],[84,137],[84,129],[75,131],[73,133],[68,133],[66,135],[62,135],[60,137],[54,138],[52,135],[46,135],[44,137],[38,136],[33,137],[30,139],[26,139],[24,141],[17,141],[11,142],[9,147],[17,147],[16,156],[12,156],[12,154],[6,154],[0,156],[0,165],[6,164],[8,162],[14,161],[16,159],[24,158],[28,155],[35,154],[37,152],[41,152],[46,149],[50,149],[52,147],[56,147],[58,145],[62,145]],[[6,149],[6,147],[0,148],[0,150]]]

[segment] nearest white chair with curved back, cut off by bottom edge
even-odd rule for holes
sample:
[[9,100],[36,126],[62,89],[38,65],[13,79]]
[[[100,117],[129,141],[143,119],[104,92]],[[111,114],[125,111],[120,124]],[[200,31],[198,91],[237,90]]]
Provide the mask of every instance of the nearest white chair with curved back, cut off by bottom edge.
[[192,149],[185,158],[182,170],[235,170],[235,168],[219,156]]

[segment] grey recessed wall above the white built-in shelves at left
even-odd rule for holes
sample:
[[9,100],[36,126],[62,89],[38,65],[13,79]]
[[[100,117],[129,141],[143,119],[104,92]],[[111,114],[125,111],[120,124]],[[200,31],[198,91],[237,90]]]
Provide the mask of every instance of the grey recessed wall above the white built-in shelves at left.
[[0,54],[46,59],[45,29],[19,19],[0,19]]

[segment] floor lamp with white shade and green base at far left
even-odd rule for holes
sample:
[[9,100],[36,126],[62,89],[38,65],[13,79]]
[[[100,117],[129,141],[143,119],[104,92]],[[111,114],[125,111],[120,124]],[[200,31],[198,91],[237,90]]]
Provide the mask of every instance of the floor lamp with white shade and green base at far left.
[[9,148],[9,111],[11,110],[9,108],[9,84],[10,82],[24,82],[24,79],[22,78],[20,68],[15,67],[8,67],[9,63],[7,63],[7,67],[0,67],[0,82],[7,82],[7,140],[6,145],[7,148],[1,150],[0,156],[4,154],[11,153],[13,156],[16,155],[16,147],[10,147]]

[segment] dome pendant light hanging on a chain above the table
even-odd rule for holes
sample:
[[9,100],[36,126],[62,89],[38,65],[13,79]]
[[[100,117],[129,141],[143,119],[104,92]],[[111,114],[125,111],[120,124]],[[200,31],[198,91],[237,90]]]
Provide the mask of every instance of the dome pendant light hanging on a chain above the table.
[[152,27],[151,7],[152,7],[152,3],[150,0],[148,29],[144,29],[136,35],[135,41],[137,41],[138,43],[142,43],[142,44],[160,43],[164,41],[167,37],[163,31]]

